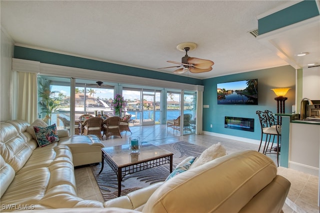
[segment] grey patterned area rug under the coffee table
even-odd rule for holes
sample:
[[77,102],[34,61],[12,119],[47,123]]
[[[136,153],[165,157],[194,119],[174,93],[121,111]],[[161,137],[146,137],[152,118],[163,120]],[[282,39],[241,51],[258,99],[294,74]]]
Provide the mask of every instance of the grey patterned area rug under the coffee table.
[[[167,150],[173,153],[173,170],[175,166],[188,156],[199,156],[204,150],[204,147],[200,147],[194,144],[190,144],[184,141],[165,144],[158,146],[161,149]],[[91,166],[96,183],[98,184],[102,193],[104,201],[117,197],[117,179],[115,173],[105,163],[103,170],[98,175],[101,164]],[[136,172],[124,176],[121,183],[121,196],[126,195],[135,190],[149,186],[150,184],[164,181],[169,175],[169,164],[161,165],[144,171]]]

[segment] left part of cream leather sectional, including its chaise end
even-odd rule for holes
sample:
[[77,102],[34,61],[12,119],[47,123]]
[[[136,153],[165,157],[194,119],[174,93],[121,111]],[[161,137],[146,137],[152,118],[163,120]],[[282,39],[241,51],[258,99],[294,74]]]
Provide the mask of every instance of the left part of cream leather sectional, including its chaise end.
[[[103,207],[76,196],[73,167],[101,161],[103,144],[96,136],[69,136],[38,147],[23,120],[0,123],[1,210]],[[13,205],[12,208],[6,208]],[[14,206],[15,205],[15,206]]]

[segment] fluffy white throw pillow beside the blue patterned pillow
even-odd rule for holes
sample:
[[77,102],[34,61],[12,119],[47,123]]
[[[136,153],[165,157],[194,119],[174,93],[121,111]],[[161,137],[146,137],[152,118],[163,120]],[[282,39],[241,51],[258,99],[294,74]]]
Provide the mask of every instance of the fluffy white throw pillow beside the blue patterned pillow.
[[226,155],[225,149],[222,147],[221,143],[218,142],[217,144],[213,144],[206,150],[202,152],[202,154],[195,159],[195,161],[191,164],[189,169],[198,167],[202,164],[205,164],[209,161],[212,161],[213,159],[222,157]]

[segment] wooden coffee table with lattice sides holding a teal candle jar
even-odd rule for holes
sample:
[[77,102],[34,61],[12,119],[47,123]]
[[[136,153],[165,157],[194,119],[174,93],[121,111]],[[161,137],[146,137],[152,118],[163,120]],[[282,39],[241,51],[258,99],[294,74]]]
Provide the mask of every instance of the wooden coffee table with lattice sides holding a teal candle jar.
[[125,175],[163,164],[170,164],[170,173],[172,172],[173,154],[146,142],[142,142],[140,154],[138,155],[130,154],[128,144],[102,148],[101,151],[102,165],[99,174],[103,170],[105,161],[117,176],[118,197],[120,197],[121,194],[121,181]]

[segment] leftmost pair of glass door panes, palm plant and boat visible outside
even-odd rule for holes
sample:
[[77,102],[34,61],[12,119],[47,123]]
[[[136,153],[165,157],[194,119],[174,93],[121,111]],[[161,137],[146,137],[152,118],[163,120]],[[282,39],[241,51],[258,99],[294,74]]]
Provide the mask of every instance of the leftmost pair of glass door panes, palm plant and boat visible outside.
[[80,115],[113,114],[109,102],[114,96],[114,86],[103,82],[99,85],[92,80],[72,80],[74,94],[71,94],[71,78],[38,75],[38,118],[48,125],[56,124],[58,129],[68,129],[70,134],[78,134]]

